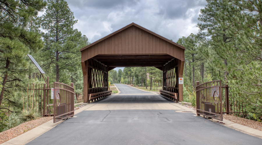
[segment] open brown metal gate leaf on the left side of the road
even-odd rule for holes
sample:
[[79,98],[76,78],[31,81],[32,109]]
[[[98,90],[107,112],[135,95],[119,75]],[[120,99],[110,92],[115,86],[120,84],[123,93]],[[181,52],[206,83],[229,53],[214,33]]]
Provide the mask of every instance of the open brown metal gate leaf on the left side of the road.
[[74,116],[74,84],[54,82],[54,123]]

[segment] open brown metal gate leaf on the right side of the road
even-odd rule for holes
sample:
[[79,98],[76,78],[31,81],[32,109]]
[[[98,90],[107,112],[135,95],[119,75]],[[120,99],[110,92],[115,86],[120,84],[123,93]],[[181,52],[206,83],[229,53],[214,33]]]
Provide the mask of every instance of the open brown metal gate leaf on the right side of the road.
[[197,115],[223,121],[221,80],[199,84],[197,81]]

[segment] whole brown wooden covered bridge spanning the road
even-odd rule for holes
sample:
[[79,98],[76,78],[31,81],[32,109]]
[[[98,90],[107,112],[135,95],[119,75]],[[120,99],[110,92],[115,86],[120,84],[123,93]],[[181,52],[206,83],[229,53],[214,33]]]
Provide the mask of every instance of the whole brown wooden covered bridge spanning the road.
[[183,101],[185,48],[156,33],[131,23],[82,48],[84,102],[110,95],[108,71],[116,67],[153,66],[163,71],[161,95]]

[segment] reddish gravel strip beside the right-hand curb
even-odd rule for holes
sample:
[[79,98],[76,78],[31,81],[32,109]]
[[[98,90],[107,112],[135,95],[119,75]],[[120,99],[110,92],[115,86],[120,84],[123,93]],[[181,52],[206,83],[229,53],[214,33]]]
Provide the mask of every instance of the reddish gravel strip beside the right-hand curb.
[[246,118],[241,118],[233,115],[223,115],[223,119],[262,131],[262,122],[257,122],[254,120],[246,119]]

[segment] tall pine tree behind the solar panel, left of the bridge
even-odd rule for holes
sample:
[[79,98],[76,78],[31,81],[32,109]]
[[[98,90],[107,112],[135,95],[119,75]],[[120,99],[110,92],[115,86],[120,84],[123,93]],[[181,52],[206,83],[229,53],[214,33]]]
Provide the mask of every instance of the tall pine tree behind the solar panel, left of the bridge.
[[[38,24],[46,32],[43,33],[45,47],[41,53],[43,67],[48,73],[55,73],[57,82],[65,82],[65,70],[74,71],[80,66],[79,49],[87,44],[79,44],[83,40],[81,32],[73,29],[77,23],[73,12],[64,0],[48,0],[46,12],[38,17]],[[61,80],[62,79],[62,80]]]

